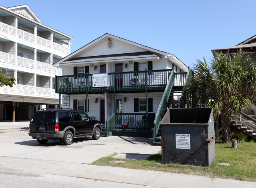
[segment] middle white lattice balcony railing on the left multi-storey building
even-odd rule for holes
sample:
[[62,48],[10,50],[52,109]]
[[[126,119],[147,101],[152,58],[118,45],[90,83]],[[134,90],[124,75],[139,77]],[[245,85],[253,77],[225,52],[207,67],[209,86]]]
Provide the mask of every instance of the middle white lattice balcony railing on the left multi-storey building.
[[[16,64],[15,63],[15,55],[0,52],[0,62],[15,65]],[[54,73],[56,75],[62,74],[61,68],[52,67],[51,64],[40,62],[40,61],[35,61],[35,60],[29,59],[29,58],[17,57],[17,65],[26,67],[26,68],[45,71],[48,73]]]

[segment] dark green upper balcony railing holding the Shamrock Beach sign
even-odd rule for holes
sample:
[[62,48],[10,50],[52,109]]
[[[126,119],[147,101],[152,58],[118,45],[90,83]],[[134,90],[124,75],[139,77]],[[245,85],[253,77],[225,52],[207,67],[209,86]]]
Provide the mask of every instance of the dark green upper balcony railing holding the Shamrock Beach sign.
[[[56,93],[104,93],[164,91],[172,69],[106,73],[107,86],[93,86],[93,74],[65,75],[55,78]],[[187,73],[174,73],[174,85],[183,86]]]

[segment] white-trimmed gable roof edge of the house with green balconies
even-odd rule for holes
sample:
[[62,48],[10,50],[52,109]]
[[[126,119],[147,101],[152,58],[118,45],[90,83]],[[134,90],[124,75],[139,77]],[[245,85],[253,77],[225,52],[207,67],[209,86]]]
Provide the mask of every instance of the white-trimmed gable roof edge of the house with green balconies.
[[126,40],[124,38],[117,37],[115,35],[111,35],[109,33],[105,33],[101,37],[96,38],[92,42],[86,44],[85,46],[83,46],[80,49],[78,49],[78,50],[74,51],[73,53],[71,53],[70,55],[68,55],[68,56],[64,57],[63,59],[59,60],[58,62],[55,63],[55,66],[58,66],[59,64],[62,64],[64,62],[66,63],[66,62],[69,62],[71,60],[74,60],[74,58],[78,57],[79,55],[82,55],[85,51],[87,51],[89,49],[92,49],[93,47],[95,47],[96,45],[100,44],[102,41],[106,40],[107,38],[113,38],[113,39],[116,39],[116,40],[120,40],[122,42],[126,42],[128,44],[131,44],[133,46],[140,47],[142,49],[150,51],[152,54],[154,54],[154,56],[163,55],[166,58],[169,58],[169,59],[172,58],[172,61],[175,61],[176,64],[179,64],[180,68],[182,67],[182,69],[187,69],[187,66],[182,61],[180,61],[177,57],[175,57],[173,54],[170,54],[170,53],[167,53],[167,52],[164,52],[164,51],[160,51],[160,50],[148,47],[148,46],[144,46],[142,44],[138,44],[136,42],[132,42],[130,40]]

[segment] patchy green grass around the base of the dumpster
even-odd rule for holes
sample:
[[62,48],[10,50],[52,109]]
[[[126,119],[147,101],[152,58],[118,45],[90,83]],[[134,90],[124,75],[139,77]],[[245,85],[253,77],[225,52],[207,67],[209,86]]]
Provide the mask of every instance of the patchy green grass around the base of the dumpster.
[[[256,181],[255,142],[239,142],[237,143],[237,149],[232,149],[231,143],[216,143],[215,147],[216,161],[211,166],[205,167],[173,163],[162,164],[161,153],[151,155],[147,160],[116,159],[111,156],[102,157],[91,164]],[[115,161],[125,162],[114,163]],[[229,163],[230,166],[219,165],[219,163]]]

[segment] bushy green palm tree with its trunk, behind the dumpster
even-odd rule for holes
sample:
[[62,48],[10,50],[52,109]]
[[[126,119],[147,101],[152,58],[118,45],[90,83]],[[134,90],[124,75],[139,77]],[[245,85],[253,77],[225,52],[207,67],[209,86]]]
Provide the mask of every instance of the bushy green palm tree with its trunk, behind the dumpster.
[[196,104],[214,108],[219,118],[223,142],[230,141],[230,116],[249,111],[256,101],[256,65],[247,53],[215,53],[208,66],[205,58],[196,60],[195,74],[189,80],[187,92]]

